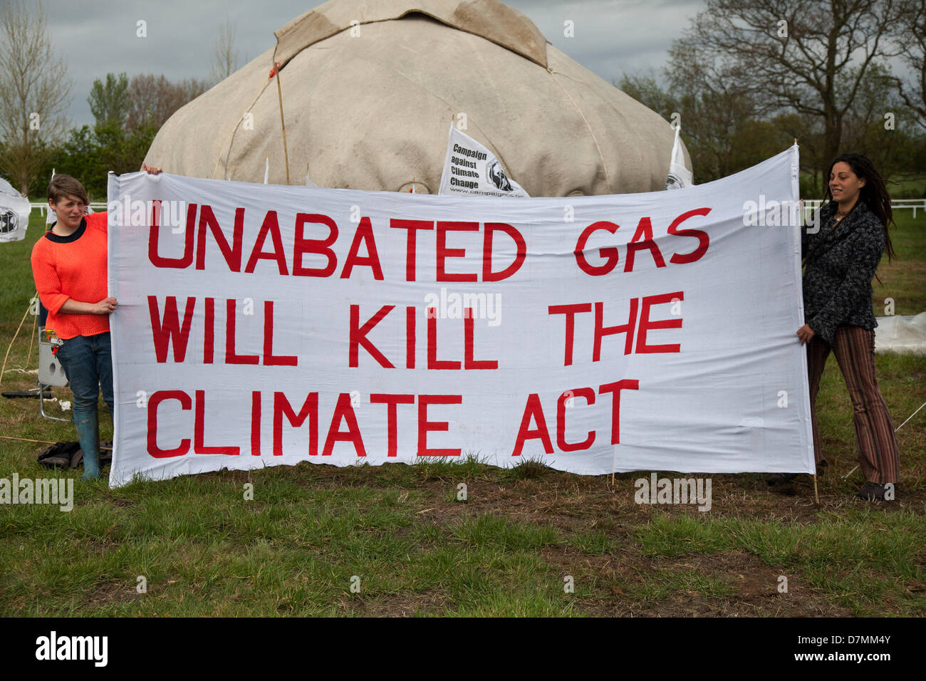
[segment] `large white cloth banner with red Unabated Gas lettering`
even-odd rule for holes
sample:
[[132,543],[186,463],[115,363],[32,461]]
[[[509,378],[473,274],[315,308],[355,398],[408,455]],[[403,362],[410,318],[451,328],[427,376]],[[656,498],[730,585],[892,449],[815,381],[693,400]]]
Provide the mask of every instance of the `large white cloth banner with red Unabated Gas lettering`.
[[113,177],[110,484],[468,455],[811,473],[796,173],[795,146],[669,194]]

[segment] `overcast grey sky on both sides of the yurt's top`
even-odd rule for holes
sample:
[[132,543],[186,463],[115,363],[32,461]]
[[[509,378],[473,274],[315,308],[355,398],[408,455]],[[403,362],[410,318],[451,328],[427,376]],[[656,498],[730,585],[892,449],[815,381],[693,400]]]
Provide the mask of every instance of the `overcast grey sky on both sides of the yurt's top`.
[[[107,71],[163,73],[171,81],[207,79],[219,24],[235,25],[239,66],[276,44],[273,32],[320,2],[307,0],[45,0],[52,44],[68,63],[72,124],[93,123],[87,104]],[[507,0],[546,39],[607,81],[624,71],[661,69],[672,40],[704,0]],[[147,37],[136,36],[139,20]],[[563,35],[572,20],[575,37]],[[246,57],[246,59],[245,59]]]

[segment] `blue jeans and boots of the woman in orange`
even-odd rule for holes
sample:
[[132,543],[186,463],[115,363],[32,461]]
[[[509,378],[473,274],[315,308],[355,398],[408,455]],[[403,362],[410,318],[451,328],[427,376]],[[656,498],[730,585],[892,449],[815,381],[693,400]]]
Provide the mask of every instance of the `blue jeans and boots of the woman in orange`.
[[100,426],[96,405],[101,387],[109,413],[115,413],[109,333],[74,336],[58,348],[56,358],[61,362],[70,390],[74,393],[74,425],[83,450],[84,477],[98,477]]

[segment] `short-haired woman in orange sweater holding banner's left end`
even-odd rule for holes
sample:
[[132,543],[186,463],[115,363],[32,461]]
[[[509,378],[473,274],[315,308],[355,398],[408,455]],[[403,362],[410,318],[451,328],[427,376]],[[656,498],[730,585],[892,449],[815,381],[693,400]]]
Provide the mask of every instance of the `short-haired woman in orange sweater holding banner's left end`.
[[[142,165],[156,174],[159,168]],[[109,315],[116,298],[106,295],[106,213],[87,215],[83,185],[56,175],[48,185],[48,206],[57,216],[51,229],[32,247],[32,277],[48,309],[47,329],[64,341],[56,357],[74,393],[74,423],[83,450],[83,479],[100,476],[100,387],[113,411],[113,373]]]

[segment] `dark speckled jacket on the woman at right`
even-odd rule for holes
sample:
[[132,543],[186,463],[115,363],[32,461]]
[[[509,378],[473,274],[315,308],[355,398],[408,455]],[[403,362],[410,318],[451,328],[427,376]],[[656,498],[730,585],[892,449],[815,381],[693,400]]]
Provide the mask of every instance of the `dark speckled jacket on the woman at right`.
[[[838,204],[820,208],[820,231],[801,233],[804,271],[804,316],[807,324],[832,346],[839,326],[872,330],[878,322],[871,311],[871,278],[884,246],[884,226],[860,199],[832,229]],[[818,246],[819,245],[819,246]]]

